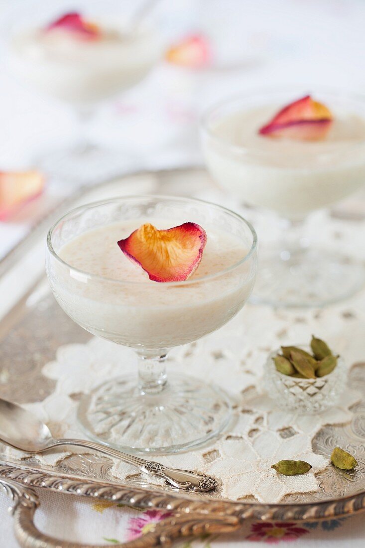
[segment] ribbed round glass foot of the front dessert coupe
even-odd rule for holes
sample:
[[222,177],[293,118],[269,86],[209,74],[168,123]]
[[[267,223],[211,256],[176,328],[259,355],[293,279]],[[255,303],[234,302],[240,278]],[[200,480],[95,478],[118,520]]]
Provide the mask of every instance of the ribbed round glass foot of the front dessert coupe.
[[85,396],[78,420],[87,435],[125,452],[175,453],[214,438],[228,424],[224,392],[193,377],[169,376],[157,394],[140,392],[135,379],[119,377]]

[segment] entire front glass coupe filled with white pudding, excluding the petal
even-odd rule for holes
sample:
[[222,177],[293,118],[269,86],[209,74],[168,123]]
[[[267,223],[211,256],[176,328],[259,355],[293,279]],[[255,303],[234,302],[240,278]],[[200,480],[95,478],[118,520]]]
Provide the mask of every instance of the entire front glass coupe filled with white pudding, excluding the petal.
[[[190,278],[151,281],[121,252],[118,239],[147,221],[204,228],[207,244]],[[253,227],[195,199],[123,197],[67,213],[50,229],[47,244],[47,275],[62,309],[90,333],[132,347],[138,356],[138,380],[106,380],[82,399],[78,420],[88,435],[136,452],[176,452],[215,437],[229,421],[229,399],[204,379],[168,379],[165,358],[172,347],[219,329],[242,309],[256,275]]]

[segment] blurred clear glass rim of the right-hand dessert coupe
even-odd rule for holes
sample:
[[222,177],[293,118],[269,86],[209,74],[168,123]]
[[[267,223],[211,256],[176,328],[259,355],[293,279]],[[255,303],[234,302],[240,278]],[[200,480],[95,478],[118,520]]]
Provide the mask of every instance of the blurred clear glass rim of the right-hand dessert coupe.
[[[311,88],[313,89],[313,92],[307,91],[306,89]],[[303,91],[304,90],[304,91]],[[293,87],[272,87],[272,88],[255,88],[250,90],[249,92],[242,92],[242,93],[236,93],[235,95],[226,96],[225,99],[221,99],[218,102],[215,102],[212,106],[210,106],[201,116],[200,118],[200,125],[202,132],[204,134],[207,134],[210,139],[218,143],[220,146],[225,147],[227,150],[230,150],[232,152],[235,152],[238,155],[244,155],[247,153],[253,153],[254,155],[258,157],[266,157],[266,158],[272,158],[276,157],[276,152],[269,152],[269,151],[261,151],[258,150],[255,146],[241,146],[241,145],[234,145],[230,141],[227,141],[224,138],[221,138],[219,135],[216,135],[210,127],[210,122],[212,116],[216,115],[221,109],[225,109],[225,107],[233,106],[235,104],[240,105],[244,100],[253,99],[256,96],[261,96],[261,98],[266,99],[270,98],[273,94],[280,94],[280,93],[298,93],[298,99],[300,96],[304,97],[305,95],[309,95],[312,93],[315,95],[316,93],[320,94],[327,94],[329,96],[332,96],[334,99],[350,99],[355,100],[358,102],[361,102],[364,105],[365,108],[365,95],[361,93],[356,92],[349,92],[346,90],[341,89],[333,89],[333,88],[327,88],[327,87],[321,87],[317,85],[308,85],[304,84],[303,86],[300,86],[300,84],[295,84]],[[295,98],[293,98],[294,100]],[[258,105],[260,106],[260,102],[258,102]],[[280,107],[278,107],[280,108]],[[352,146],[346,147],[346,151],[349,150],[355,150],[358,147],[361,147],[365,144],[365,139],[357,141],[356,144],[353,144]],[[326,152],[319,151],[318,157],[324,156],[328,157],[331,156],[333,153],[338,154],[338,148],[333,147],[333,151],[327,149]],[[292,168],[291,168],[292,169]]]

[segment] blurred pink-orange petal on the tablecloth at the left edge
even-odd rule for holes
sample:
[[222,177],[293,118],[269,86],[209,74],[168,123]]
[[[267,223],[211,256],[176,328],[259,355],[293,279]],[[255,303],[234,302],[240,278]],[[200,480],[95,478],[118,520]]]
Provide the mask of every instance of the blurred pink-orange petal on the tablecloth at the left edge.
[[0,220],[4,221],[39,196],[44,177],[37,171],[0,172]]

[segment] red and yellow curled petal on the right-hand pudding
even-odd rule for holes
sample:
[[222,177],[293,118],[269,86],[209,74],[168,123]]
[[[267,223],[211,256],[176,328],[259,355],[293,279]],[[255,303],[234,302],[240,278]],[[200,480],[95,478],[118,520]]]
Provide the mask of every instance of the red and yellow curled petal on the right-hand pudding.
[[287,137],[303,141],[324,139],[332,124],[332,114],[325,105],[310,95],[284,107],[259,129],[261,135]]

